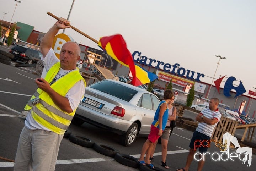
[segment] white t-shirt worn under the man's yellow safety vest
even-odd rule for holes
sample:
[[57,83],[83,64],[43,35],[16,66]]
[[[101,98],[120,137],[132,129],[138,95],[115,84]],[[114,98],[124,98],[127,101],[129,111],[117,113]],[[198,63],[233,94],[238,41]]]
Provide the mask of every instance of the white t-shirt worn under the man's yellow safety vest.
[[[47,72],[54,64],[59,62],[59,59],[55,56],[53,52],[53,49],[50,49],[47,55],[44,58],[42,57],[41,60],[46,64],[44,65],[44,68],[46,69]],[[63,70],[62,68],[60,68],[60,71],[57,74],[56,78],[58,79],[59,77],[61,77],[62,75],[64,75],[69,71],[70,70]],[[70,88],[70,90],[68,91],[65,97],[68,98],[69,104],[72,110],[78,107],[80,100],[84,95],[84,92],[85,92],[85,85],[84,85],[84,82],[81,80],[76,82],[74,86]],[[44,127],[43,125],[35,121],[31,115],[31,112],[28,112],[27,114],[25,125],[28,129],[31,129],[31,130],[42,129],[42,130],[50,131],[48,128]]]

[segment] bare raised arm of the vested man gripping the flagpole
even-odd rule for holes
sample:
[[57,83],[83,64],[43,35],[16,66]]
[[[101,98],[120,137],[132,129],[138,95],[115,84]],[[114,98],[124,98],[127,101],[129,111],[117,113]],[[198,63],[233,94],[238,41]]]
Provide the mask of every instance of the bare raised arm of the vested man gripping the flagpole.
[[52,26],[52,28],[50,28],[49,31],[44,35],[40,44],[43,57],[45,57],[50,48],[52,48],[53,39],[58,31],[60,29],[70,28],[70,26],[65,25],[69,23],[70,22],[65,18],[59,18],[59,20]]

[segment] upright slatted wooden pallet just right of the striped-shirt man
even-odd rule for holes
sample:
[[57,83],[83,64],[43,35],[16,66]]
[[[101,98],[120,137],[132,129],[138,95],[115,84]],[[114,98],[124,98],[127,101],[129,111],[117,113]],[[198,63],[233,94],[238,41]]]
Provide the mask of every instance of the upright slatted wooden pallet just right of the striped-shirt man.
[[222,116],[217,126],[214,128],[211,139],[217,138],[218,141],[222,141],[223,134],[229,132],[234,136],[238,121],[231,120],[227,117]]

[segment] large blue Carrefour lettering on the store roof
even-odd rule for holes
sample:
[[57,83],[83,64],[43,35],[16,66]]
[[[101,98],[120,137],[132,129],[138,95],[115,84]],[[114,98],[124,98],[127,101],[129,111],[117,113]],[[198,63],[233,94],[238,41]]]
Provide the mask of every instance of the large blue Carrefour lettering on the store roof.
[[[137,57],[135,57],[135,55]],[[185,68],[180,67],[180,64],[178,63],[171,65],[169,63],[164,63],[162,61],[157,61],[155,59],[148,58],[146,56],[141,56],[141,52],[139,51],[134,51],[132,56],[133,56],[134,62],[139,62],[140,64],[143,64],[149,67],[155,67],[157,70],[162,69],[165,72],[169,72],[174,75],[177,74],[178,76],[186,77],[188,79],[192,79],[195,81],[200,81],[200,77],[204,77],[204,74],[201,74],[199,72],[195,74],[195,71],[186,70]]]

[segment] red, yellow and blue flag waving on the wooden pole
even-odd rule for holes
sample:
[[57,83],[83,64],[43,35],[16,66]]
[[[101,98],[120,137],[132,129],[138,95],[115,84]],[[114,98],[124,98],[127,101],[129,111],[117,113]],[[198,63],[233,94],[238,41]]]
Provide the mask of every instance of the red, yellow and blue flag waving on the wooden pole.
[[121,34],[101,37],[98,46],[106,51],[114,60],[130,68],[133,76],[131,84],[134,86],[149,83],[158,78],[154,73],[148,72],[134,64],[132,54],[127,49],[126,42]]

